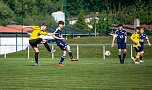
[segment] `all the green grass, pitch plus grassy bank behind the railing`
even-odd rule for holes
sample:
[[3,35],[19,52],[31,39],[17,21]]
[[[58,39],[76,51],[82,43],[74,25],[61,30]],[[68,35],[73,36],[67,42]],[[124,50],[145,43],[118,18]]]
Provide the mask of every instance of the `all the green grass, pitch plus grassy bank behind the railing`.
[[[112,37],[84,37],[66,40],[69,44],[111,44]],[[152,36],[150,37],[152,40]],[[152,42],[152,41],[151,41]],[[130,39],[128,43],[131,44]],[[76,47],[72,46],[74,56]],[[117,46],[106,46],[112,54],[102,59],[101,46],[81,46],[78,62],[70,62],[68,56],[64,67],[57,67],[62,52],[58,47],[55,59],[42,46],[39,47],[39,62],[35,67],[34,52],[27,49],[17,53],[0,55],[0,90],[151,90],[152,47],[145,46],[144,64],[133,64],[130,47],[127,59],[119,64]]]

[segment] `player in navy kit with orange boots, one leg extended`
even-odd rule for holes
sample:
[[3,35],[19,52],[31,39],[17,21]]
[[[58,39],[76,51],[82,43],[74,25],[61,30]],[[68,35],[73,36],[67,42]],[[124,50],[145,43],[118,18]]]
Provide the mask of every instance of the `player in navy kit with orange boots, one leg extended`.
[[72,51],[70,50],[70,46],[63,41],[64,38],[62,38],[62,36],[61,36],[63,28],[64,28],[64,22],[63,21],[59,21],[58,22],[58,28],[55,30],[54,35],[53,35],[53,37],[56,40],[57,46],[59,46],[60,49],[63,51],[63,55],[62,55],[62,57],[60,59],[60,62],[58,64],[58,66],[64,66],[62,63],[63,63],[63,61],[64,61],[64,59],[66,57],[67,51],[69,53],[71,61],[78,61],[78,59],[73,58],[73,54],[72,54]]

